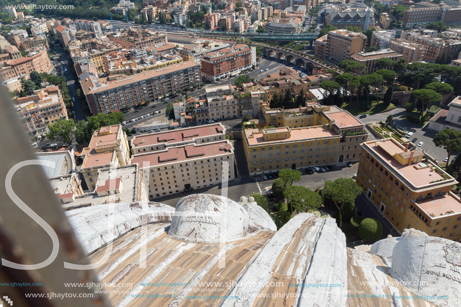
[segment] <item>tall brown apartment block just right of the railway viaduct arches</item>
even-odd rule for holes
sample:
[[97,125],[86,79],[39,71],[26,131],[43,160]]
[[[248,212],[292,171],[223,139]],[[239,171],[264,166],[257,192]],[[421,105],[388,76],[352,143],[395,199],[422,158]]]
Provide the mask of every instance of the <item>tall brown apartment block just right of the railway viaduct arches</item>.
[[[317,47],[317,43],[323,41],[325,38],[326,44],[324,48],[322,43],[319,43]],[[365,40],[366,36],[362,33],[355,33],[347,30],[330,31],[327,35],[316,40],[315,55],[322,55],[321,50],[324,49],[325,55],[320,59],[338,64],[339,62],[348,60],[352,54],[361,52],[364,48]],[[317,48],[319,50],[317,50]]]

